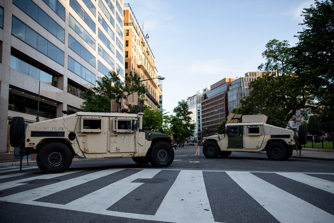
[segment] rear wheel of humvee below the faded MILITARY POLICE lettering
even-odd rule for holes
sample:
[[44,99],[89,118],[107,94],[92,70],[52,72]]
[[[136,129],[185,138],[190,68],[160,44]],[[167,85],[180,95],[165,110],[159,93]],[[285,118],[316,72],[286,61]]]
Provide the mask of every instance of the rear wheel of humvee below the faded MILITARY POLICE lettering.
[[37,165],[46,174],[62,173],[72,163],[72,152],[61,142],[50,142],[37,153]]

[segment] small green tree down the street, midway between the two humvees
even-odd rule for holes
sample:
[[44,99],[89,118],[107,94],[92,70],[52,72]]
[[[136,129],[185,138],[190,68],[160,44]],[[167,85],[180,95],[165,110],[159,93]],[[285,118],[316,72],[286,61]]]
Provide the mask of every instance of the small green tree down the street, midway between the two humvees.
[[[191,111],[185,100],[178,102],[178,106],[173,109],[176,116],[171,117],[171,129],[173,136],[179,141],[184,141],[186,138],[194,135],[195,125],[191,124]],[[182,123],[182,125],[181,125]]]

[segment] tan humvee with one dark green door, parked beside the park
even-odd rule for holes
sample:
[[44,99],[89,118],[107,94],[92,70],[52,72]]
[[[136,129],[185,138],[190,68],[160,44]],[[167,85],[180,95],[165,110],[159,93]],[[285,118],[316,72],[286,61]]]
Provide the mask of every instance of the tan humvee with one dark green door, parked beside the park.
[[203,154],[207,158],[227,157],[232,151],[266,151],[269,159],[283,160],[292,156],[293,149],[306,144],[306,126],[299,127],[298,134],[290,129],[266,124],[266,115],[241,115],[230,113],[226,134],[203,137]]

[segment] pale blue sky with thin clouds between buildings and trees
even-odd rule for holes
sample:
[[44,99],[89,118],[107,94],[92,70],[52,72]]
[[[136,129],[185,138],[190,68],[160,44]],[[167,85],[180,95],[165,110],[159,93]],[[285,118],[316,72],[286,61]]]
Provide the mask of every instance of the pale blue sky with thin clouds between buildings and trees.
[[125,0],[155,57],[163,81],[163,109],[227,77],[244,77],[265,62],[272,39],[288,40],[303,26],[303,8],[314,0]]

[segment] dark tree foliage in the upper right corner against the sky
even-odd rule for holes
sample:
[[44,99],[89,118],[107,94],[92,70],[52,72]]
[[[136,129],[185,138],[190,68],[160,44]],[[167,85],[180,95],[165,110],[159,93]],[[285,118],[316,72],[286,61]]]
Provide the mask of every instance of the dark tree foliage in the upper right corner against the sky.
[[334,5],[333,0],[315,1],[304,8],[305,25],[299,42],[291,48],[291,65],[297,82],[317,97],[320,104],[334,105]]

